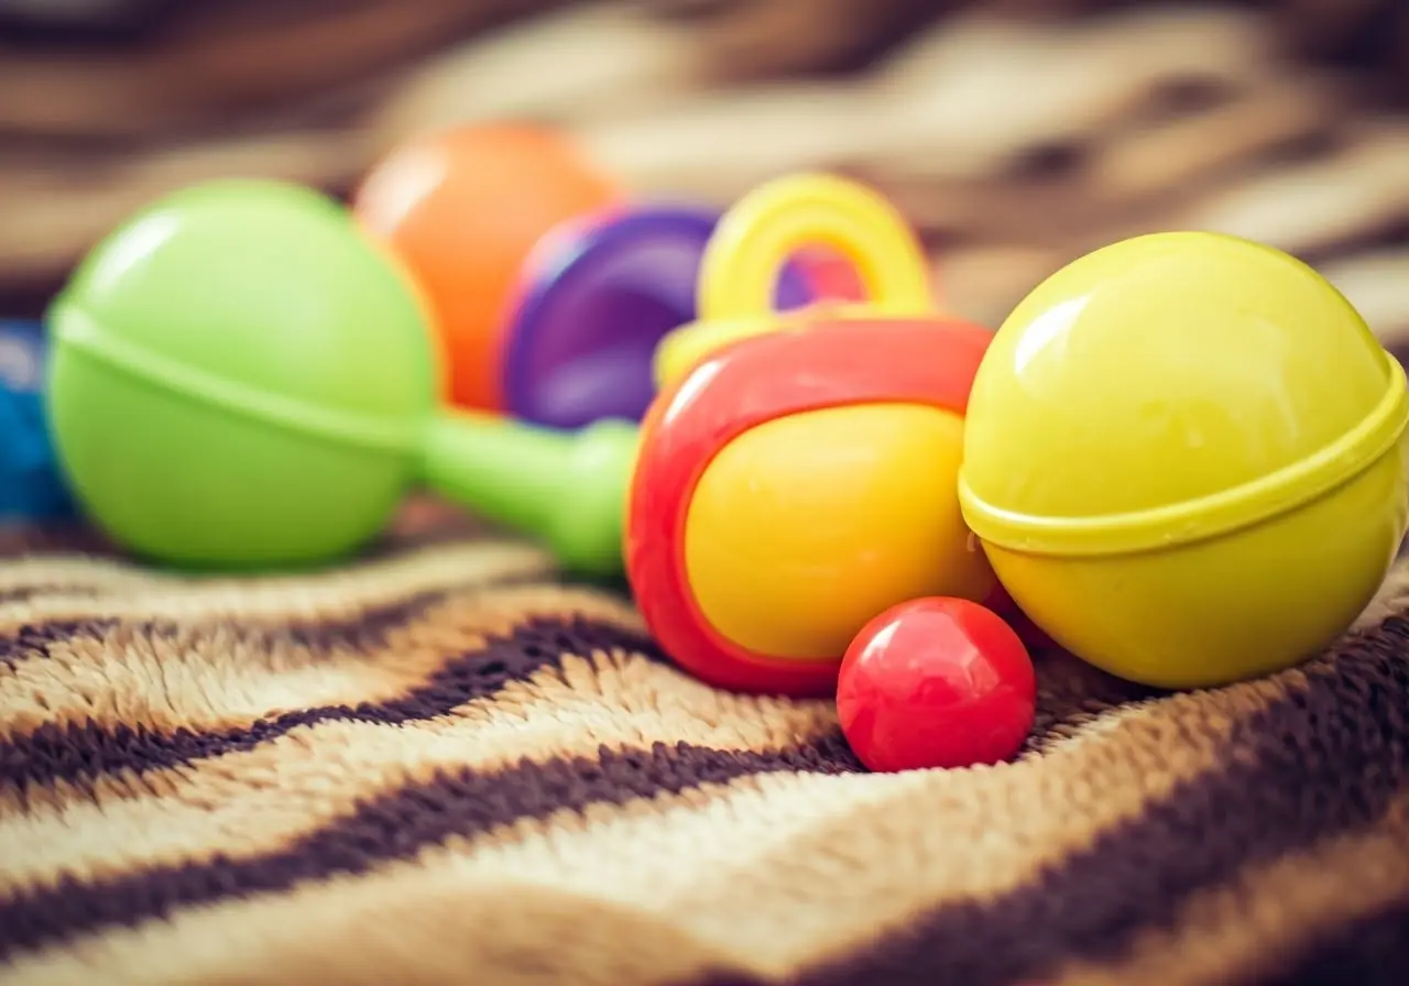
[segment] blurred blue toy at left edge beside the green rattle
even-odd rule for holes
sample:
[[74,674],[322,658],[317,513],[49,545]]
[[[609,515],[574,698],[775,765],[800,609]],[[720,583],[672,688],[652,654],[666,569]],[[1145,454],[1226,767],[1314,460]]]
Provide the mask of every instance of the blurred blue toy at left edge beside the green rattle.
[[42,324],[0,321],[0,520],[73,514],[44,417],[46,362]]

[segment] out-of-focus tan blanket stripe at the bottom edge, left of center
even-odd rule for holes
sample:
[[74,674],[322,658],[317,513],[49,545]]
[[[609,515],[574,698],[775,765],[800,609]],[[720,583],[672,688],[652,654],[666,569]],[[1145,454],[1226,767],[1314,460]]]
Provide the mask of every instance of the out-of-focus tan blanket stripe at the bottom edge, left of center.
[[[14,986],[645,986],[709,966],[728,949],[703,942],[668,911],[510,876],[430,879],[309,901],[266,897],[272,916],[227,921],[223,909],[183,911],[169,927],[103,935],[23,956]],[[440,879],[437,879],[440,876]],[[99,972],[100,971],[100,972]]]

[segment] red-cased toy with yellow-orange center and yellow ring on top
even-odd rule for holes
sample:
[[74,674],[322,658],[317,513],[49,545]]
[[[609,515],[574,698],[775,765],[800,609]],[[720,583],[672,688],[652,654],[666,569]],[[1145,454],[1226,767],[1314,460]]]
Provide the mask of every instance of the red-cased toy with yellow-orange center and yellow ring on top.
[[[806,244],[848,256],[872,301],[774,313]],[[919,245],[859,186],[805,175],[740,200],[706,251],[700,321],[659,363],[631,485],[627,573],[683,668],[828,694],[876,613],[989,596],[955,476],[991,338],[934,310]]]

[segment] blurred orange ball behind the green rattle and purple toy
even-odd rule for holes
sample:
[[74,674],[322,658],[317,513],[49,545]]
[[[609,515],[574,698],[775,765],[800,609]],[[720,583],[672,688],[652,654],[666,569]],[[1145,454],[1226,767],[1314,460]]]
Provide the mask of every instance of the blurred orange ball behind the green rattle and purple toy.
[[461,407],[502,411],[503,331],[520,269],[564,220],[619,199],[565,137],[520,124],[413,141],[362,183],[354,210],[426,293]]

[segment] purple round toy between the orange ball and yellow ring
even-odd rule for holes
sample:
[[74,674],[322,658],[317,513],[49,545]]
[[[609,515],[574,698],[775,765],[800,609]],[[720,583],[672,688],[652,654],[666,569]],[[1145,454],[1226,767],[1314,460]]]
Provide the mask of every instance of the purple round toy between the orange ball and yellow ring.
[[[638,206],[548,234],[528,258],[506,327],[506,410],[555,428],[638,421],[655,396],[657,344],[695,321],[700,258],[719,220],[707,208]],[[812,297],[803,275],[785,266],[778,307]]]

